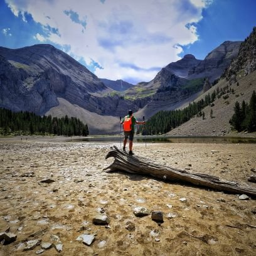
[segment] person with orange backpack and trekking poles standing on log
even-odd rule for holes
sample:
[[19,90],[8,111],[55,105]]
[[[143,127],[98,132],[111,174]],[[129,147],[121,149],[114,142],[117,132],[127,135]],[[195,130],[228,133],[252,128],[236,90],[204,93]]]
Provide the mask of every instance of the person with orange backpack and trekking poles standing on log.
[[125,151],[125,146],[127,143],[127,139],[129,138],[129,155],[133,155],[134,152],[132,152],[132,141],[134,138],[134,126],[135,124],[146,124],[145,121],[139,122],[137,121],[136,117],[132,115],[132,110],[130,109],[128,111],[128,115],[124,117],[120,121],[120,124],[124,127],[124,147],[123,150]]

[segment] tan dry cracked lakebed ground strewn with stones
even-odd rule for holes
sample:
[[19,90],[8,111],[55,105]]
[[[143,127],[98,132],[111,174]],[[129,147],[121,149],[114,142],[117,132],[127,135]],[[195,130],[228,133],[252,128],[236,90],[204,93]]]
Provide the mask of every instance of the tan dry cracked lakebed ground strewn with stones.
[[[52,247],[41,255],[256,255],[255,200],[106,173],[113,145],[0,140],[0,232],[10,227],[17,235],[0,245],[0,255],[36,255],[40,245],[23,251],[26,241],[50,242],[51,235],[60,238],[63,250]],[[134,152],[256,188],[247,182],[256,168],[256,144],[135,143]],[[40,183],[44,178],[55,182]],[[135,206],[163,211],[164,222],[136,217]],[[100,211],[109,216],[108,227],[92,223]],[[92,245],[76,241],[83,233],[95,235]]]

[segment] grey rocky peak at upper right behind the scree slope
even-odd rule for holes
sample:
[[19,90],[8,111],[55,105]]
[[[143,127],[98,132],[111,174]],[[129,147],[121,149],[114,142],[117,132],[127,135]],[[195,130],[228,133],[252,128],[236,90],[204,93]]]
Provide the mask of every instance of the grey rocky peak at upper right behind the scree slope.
[[198,65],[192,67],[187,79],[208,77],[210,82],[219,78],[225,69],[230,65],[233,58],[238,54],[241,41],[225,41],[211,51]]

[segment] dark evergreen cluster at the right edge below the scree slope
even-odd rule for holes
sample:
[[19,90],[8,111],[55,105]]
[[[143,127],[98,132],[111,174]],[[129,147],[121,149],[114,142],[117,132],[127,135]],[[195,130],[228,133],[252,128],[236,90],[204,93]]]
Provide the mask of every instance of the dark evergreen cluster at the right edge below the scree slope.
[[254,90],[249,104],[245,103],[244,100],[241,106],[239,102],[235,102],[234,114],[229,122],[238,132],[256,131],[256,93]]

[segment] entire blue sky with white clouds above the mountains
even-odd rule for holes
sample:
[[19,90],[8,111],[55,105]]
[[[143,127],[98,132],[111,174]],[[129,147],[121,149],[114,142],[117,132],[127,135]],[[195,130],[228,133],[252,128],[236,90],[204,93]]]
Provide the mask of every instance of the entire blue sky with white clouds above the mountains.
[[137,83],[256,26],[254,0],[0,0],[0,46],[50,43],[97,77]]

